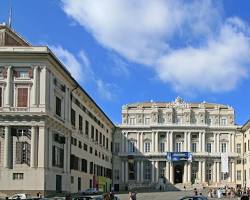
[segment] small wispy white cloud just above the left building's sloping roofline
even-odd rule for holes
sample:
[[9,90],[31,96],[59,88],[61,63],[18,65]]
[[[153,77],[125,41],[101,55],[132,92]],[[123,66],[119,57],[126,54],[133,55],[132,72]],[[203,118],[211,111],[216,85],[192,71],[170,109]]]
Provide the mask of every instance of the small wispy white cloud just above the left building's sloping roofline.
[[112,84],[105,83],[97,77],[90,66],[90,61],[83,50],[76,57],[73,53],[62,46],[49,46],[55,55],[62,61],[72,76],[80,83],[94,83],[98,94],[106,100],[112,100],[114,94],[110,91]]

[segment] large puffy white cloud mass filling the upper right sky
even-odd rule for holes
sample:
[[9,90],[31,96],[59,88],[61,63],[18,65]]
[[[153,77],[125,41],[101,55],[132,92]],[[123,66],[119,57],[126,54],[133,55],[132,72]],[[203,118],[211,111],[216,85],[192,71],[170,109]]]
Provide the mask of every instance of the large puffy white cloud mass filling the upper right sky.
[[[247,75],[249,26],[212,0],[61,0],[104,47],[178,91],[229,91]],[[202,77],[202,78],[201,78]]]

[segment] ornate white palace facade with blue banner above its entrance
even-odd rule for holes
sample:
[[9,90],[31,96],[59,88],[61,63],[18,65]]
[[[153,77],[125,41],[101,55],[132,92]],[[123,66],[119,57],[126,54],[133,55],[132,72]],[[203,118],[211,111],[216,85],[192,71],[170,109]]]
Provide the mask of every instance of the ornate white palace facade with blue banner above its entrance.
[[115,189],[242,184],[242,134],[234,120],[230,106],[179,97],[124,105],[113,139]]

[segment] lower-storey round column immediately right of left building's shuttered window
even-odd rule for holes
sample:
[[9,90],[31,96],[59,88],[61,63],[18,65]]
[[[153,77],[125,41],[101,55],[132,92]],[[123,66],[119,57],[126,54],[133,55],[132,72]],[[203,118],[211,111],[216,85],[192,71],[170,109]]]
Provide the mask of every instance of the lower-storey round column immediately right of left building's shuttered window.
[[30,167],[37,166],[37,127],[31,127]]

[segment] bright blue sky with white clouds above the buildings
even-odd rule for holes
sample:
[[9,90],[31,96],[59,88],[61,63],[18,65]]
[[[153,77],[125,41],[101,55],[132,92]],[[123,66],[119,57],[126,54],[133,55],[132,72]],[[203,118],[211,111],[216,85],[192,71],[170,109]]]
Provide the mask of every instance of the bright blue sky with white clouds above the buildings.
[[[0,22],[8,7],[0,1]],[[49,45],[115,123],[123,104],[181,96],[231,105],[244,124],[249,9],[248,0],[13,0],[13,28]]]

